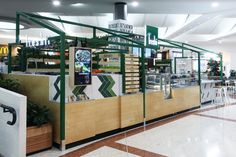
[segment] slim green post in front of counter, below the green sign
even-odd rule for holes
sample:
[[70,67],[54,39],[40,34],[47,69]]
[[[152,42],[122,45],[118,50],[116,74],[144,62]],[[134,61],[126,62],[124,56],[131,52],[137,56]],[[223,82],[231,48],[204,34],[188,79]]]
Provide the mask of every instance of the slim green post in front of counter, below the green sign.
[[146,125],[146,78],[145,78],[145,50],[142,48],[141,52],[141,72],[142,72],[142,93],[143,93],[143,124]]

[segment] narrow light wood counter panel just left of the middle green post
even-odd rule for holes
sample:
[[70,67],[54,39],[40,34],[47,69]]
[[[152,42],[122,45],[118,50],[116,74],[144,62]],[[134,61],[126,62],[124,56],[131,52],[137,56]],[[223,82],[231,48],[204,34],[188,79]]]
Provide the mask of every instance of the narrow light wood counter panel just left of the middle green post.
[[132,94],[121,97],[121,128],[143,121],[143,95]]

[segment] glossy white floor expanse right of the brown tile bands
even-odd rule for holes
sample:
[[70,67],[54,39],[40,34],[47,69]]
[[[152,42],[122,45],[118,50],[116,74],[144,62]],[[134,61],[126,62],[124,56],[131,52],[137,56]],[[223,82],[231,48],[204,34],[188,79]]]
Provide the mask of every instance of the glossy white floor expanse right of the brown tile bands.
[[[236,118],[236,106],[204,114]],[[236,123],[191,115],[118,142],[170,157],[234,157]]]

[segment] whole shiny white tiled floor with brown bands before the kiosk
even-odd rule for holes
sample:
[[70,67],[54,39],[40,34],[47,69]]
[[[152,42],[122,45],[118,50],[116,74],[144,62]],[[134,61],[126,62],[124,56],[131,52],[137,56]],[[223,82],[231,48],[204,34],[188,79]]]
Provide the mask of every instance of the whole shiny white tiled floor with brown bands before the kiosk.
[[208,106],[66,152],[33,157],[233,157],[236,105]]

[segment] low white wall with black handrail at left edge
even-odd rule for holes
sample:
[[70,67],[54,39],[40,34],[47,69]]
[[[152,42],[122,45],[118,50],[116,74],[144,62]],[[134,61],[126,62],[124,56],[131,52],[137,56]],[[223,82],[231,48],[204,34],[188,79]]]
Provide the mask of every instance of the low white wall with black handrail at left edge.
[[17,121],[10,126],[12,114],[0,107],[0,154],[3,157],[26,156],[26,97],[0,88],[0,103],[15,108]]

